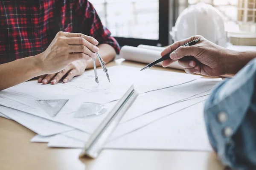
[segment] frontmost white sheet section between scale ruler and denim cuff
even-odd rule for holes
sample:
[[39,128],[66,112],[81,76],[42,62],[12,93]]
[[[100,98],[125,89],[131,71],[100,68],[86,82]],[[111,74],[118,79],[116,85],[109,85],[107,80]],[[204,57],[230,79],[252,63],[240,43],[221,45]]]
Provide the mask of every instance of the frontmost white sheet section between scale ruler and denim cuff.
[[204,125],[203,102],[166,116],[109,142],[105,148],[212,151]]

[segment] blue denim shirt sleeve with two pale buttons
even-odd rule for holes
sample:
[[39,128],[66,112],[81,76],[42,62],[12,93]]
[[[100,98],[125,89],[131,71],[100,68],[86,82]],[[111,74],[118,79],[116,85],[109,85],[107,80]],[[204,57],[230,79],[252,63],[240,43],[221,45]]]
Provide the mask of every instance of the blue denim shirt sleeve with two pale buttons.
[[204,107],[209,141],[224,165],[256,170],[256,59],[212,92]]

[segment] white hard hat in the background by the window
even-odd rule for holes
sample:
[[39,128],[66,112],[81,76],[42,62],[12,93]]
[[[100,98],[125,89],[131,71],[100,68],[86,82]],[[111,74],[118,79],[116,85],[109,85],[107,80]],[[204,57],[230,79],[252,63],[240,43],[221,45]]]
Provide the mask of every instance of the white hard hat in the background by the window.
[[223,17],[216,8],[205,3],[186,8],[177,18],[170,35],[174,42],[193,35],[201,35],[223,47],[228,42]]

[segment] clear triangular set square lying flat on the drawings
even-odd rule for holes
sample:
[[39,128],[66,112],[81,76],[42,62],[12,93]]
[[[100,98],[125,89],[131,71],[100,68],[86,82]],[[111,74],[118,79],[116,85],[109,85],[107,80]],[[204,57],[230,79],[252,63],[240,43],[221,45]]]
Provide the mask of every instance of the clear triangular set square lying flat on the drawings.
[[35,100],[37,104],[47,113],[49,116],[56,116],[63,106],[67,103],[68,99],[60,100]]

